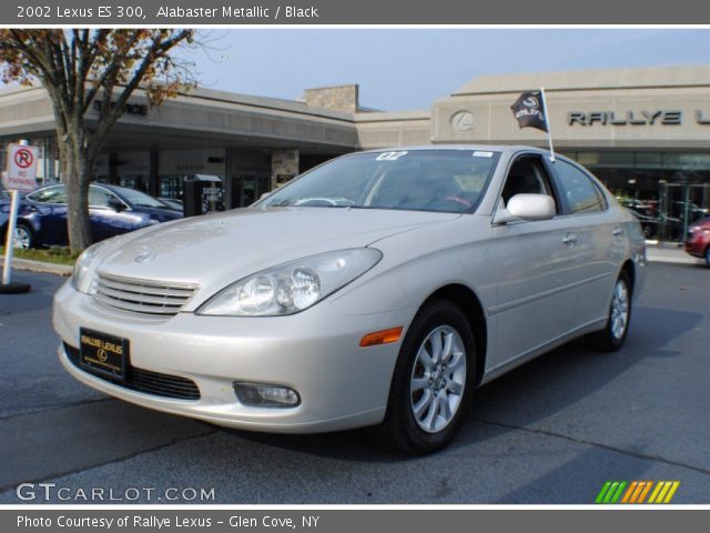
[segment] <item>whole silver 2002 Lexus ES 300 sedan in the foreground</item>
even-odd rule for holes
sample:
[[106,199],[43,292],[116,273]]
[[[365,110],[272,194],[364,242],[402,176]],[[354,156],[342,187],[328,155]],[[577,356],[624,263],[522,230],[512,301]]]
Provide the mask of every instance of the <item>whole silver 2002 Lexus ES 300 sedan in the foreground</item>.
[[572,338],[619,349],[646,249],[584,168],[526,147],[341,157],[246,209],[88,249],[55,295],[74,378],[270,432],[444,446],[474,389]]

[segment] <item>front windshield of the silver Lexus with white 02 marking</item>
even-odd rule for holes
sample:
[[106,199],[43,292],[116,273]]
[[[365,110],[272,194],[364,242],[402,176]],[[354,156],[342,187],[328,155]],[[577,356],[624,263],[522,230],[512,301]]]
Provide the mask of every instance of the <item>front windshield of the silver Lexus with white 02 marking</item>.
[[477,205],[498,158],[446,149],[358,153],[317,167],[255,205],[460,213]]

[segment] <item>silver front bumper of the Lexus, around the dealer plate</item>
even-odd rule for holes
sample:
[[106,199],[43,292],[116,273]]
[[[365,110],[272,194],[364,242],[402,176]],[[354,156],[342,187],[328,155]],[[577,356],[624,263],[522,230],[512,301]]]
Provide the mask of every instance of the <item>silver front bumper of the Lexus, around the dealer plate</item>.
[[[372,425],[384,418],[400,342],[359,348],[369,332],[409,324],[414,310],[351,315],[326,300],[277,318],[152,318],[99,303],[65,283],[54,296],[53,324],[64,369],[82,383],[146,408],[245,430],[310,433]],[[130,365],[193,381],[197,400],[138,392],[84,371],[72,358],[79,329],[130,341]],[[75,351],[74,351],[75,354]],[[240,403],[234,382],[298,392],[295,408]]]

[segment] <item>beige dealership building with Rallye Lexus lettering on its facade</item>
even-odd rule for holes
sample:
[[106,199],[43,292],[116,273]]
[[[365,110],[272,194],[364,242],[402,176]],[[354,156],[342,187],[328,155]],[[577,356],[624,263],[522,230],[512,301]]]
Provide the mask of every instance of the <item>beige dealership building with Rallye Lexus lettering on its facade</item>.
[[[655,217],[710,207],[710,66],[480,76],[420,111],[363,108],[357,86],[307,89],[294,101],[197,89],[158,108],[136,95],[112,130],[95,178],[180,197],[185,179],[219,177],[229,209],[357,150],[546,147],[546,134],[519,129],[510,111],[521,92],[540,87],[556,151],[585,164],[617,197]],[[95,117],[90,110],[89,128]],[[0,92],[0,141],[21,138],[41,148],[40,180],[60,179],[43,89]]]

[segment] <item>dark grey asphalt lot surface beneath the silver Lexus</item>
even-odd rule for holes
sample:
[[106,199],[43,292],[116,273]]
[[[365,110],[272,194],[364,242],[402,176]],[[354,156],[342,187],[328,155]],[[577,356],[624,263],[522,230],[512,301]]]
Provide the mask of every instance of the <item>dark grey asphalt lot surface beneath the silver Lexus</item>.
[[594,503],[607,480],[678,480],[673,503],[710,502],[704,266],[652,263],[621,352],[579,341],[524,365],[478,391],[450,447],[416,459],[363,431],[245,433],[109,399],[57,360],[50,305],[65,279],[13,279],[33,291],[0,296],[0,503],[44,503],[18,499],[23,482],[55,483],[65,503],[98,487],[113,501],[95,503],[165,503],[169,487],[214,489],[176,503]]

